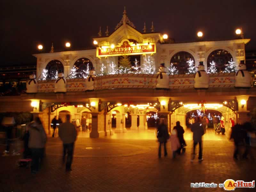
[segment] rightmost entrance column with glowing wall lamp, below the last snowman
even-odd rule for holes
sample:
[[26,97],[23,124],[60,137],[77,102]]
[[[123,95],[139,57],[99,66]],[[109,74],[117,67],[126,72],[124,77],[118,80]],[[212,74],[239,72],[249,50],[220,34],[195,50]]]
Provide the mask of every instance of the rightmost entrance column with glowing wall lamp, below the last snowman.
[[249,99],[249,96],[240,95],[240,96],[236,96],[236,99],[238,102],[238,111],[236,111],[238,118],[236,123],[243,124],[245,123],[245,121],[248,120],[247,113],[250,112],[247,110],[247,101]]

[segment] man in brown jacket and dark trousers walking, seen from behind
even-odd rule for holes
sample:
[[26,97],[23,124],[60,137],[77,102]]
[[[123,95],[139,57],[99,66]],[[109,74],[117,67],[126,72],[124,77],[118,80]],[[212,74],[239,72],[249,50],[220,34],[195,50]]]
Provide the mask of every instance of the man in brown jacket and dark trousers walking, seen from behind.
[[59,137],[63,142],[63,156],[62,160],[65,163],[66,153],[66,171],[72,171],[71,164],[73,160],[74,144],[76,141],[76,127],[74,124],[70,123],[70,115],[66,116],[67,122],[60,124],[59,126]]

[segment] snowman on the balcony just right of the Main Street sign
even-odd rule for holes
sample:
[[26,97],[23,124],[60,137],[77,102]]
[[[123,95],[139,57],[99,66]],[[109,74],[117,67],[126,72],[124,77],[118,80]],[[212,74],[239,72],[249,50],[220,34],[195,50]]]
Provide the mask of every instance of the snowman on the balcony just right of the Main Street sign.
[[159,72],[157,72],[156,88],[169,89],[169,76],[166,74],[166,67],[164,67],[164,63],[160,64]]

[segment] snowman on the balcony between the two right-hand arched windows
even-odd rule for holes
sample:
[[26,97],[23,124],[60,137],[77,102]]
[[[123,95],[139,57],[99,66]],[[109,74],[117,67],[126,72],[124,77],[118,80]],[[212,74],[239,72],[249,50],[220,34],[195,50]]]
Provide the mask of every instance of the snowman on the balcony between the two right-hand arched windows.
[[204,62],[200,61],[196,74],[195,74],[195,84],[196,89],[207,89],[209,88],[209,76],[204,70]]

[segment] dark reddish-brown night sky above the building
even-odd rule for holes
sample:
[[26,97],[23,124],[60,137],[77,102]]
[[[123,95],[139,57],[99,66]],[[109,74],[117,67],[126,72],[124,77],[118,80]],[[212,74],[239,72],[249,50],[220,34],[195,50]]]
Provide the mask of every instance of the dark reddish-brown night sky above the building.
[[49,52],[64,51],[65,42],[72,49],[92,47],[99,27],[110,33],[121,20],[124,6],[128,18],[142,32],[144,21],[149,32],[154,21],[156,32],[167,33],[176,42],[194,41],[196,32],[204,40],[233,39],[235,29],[242,27],[245,38],[251,38],[246,50],[256,50],[255,0],[2,0],[0,66],[36,64],[32,56],[37,45]]

